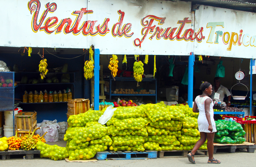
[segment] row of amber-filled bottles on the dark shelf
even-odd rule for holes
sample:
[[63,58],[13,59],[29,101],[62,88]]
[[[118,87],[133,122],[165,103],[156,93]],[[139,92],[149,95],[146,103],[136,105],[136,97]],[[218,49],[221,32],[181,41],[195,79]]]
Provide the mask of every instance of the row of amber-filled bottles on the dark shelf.
[[27,91],[25,91],[25,94],[23,95],[23,103],[67,102],[68,99],[72,99],[72,92],[70,89],[68,89],[68,92],[63,90],[63,93],[61,91],[58,93],[56,91],[50,91],[49,94],[46,90],[44,91],[44,94],[42,91],[40,91],[39,94],[37,91],[35,91],[34,94],[32,91],[27,94]]

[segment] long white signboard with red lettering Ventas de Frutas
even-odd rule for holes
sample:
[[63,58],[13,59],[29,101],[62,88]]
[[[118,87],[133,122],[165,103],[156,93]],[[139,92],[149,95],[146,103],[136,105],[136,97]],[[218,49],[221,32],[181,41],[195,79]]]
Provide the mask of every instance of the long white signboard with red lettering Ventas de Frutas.
[[94,45],[101,54],[189,55],[193,44],[191,2],[2,0],[0,4],[0,46]]

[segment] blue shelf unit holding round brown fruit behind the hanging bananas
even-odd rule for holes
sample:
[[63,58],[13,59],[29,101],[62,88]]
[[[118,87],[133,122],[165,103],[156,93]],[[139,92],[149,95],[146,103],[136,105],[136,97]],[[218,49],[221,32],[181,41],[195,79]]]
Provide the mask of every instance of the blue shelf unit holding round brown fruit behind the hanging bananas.
[[[112,81],[114,79],[109,77],[108,79],[104,79],[105,81],[109,81],[109,92],[104,92],[106,95],[109,95],[109,101],[111,101],[112,96],[155,96],[155,103],[157,103],[157,79],[154,78],[142,78],[142,82],[155,82],[155,94],[113,94],[112,90]],[[115,77],[116,81],[135,81],[133,77]]]

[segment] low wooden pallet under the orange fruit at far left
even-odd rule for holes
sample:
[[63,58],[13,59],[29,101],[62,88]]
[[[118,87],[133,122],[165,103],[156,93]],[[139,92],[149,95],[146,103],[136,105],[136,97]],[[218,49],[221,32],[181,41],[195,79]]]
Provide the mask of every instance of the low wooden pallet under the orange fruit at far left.
[[26,159],[34,159],[34,154],[40,154],[40,150],[31,150],[31,151],[24,151],[24,150],[8,150],[0,152],[2,156],[2,160],[10,159],[11,155],[26,155]]

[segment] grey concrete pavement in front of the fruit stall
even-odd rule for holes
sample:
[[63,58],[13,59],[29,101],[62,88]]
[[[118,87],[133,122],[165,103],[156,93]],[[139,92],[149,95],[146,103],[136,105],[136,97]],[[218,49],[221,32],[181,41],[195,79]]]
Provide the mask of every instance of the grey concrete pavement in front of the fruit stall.
[[[65,141],[50,142],[50,145],[57,144],[65,147]],[[252,167],[255,166],[255,153],[247,153],[246,149],[236,149],[236,153],[229,153],[228,149],[218,149],[214,154],[215,159],[221,160],[221,164],[207,164],[208,157],[195,157],[196,164],[188,162],[187,157],[182,158],[158,158],[146,160],[102,160],[97,162],[66,162],[65,160],[51,160],[48,158],[40,158],[35,155],[34,159],[23,160],[23,155],[11,156],[8,160],[0,159],[0,167],[182,167],[182,166],[225,166],[225,167]]]

